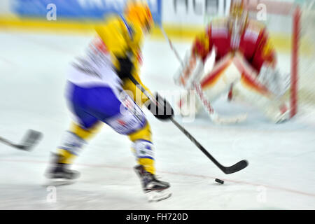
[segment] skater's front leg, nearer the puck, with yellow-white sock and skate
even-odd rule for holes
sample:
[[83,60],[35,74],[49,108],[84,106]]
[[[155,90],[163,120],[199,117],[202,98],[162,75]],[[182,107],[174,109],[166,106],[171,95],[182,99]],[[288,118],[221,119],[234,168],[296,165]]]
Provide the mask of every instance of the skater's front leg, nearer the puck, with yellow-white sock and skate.
[[150,125],[130,95],[122,92],[120,102],[120,113],[104,122],[132,141],[132,152],[138,164],[134,169],[141,179],[144,192],[149,193],[149,200],[163,200],[171,193],[167,191],[169,183],[155,176],[155,150]]

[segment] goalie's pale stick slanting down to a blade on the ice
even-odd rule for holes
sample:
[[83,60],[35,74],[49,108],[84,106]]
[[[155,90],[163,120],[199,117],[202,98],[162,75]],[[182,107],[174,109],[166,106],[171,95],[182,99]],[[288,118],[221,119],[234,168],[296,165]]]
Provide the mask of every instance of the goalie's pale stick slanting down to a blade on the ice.
[[[177,52],[177,50],[174,48],[172,41],[169,39],[169,37],[165,33],[165,30],[163,29],[162,26],[160,26],[160,29],[161,29],[165,39],[169,43],[169,47],[171,48],[171,50],[176,55],[176,58],[181,63],[181,66],[184,67],[183,61],[181,60],[181,57],[179,56],[179,52]],[[241,123],[244,120],[246,120],[246,118],[247,118],[246,114],[239,115],[239,116],[233,116],[233,117],[224,117],[224,118],[219,116],[218,113],[216,113],[216,111],[214,111],[214,109],[212,108],[210,102],[206,99],[206,97],[204,97],[204,92],[202,91],[201,85],[193,82],[193,88],[197,92],[198,99],[200,99],[200,102],[202,102],[202,105],[204,106],[205,111],[207,111],[210,119],[212,121],[214,121],[214,123],[227,125],[227,124],[231,124],[231,123]]]

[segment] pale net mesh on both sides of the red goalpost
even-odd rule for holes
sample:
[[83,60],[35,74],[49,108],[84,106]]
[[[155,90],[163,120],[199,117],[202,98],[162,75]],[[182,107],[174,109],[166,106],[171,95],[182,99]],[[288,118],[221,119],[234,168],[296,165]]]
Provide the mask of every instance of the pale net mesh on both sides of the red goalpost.
[[[270,36],[278,52],[279,68],[282,71],[292,73],[293,36],[295,31],[295,9],[300,6],[300,33],[297,51],[297,105],[306,108],[308,105],[315,106],[315,0],[296,1],[264,1],[251,0],[252,8],[259,3],[266,5],[265,22]],[[252,18],[261,18],[251,13]]]

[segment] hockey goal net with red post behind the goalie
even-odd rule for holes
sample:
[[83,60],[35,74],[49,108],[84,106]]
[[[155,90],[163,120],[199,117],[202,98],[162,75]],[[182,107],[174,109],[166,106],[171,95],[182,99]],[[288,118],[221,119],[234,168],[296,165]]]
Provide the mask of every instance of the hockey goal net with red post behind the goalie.
[[[280,71],[290,72],[291,117],[315,108],[315,0],[248,0],[249,17],[267,26]],[[264,15],[265,13],[265,15]]]

